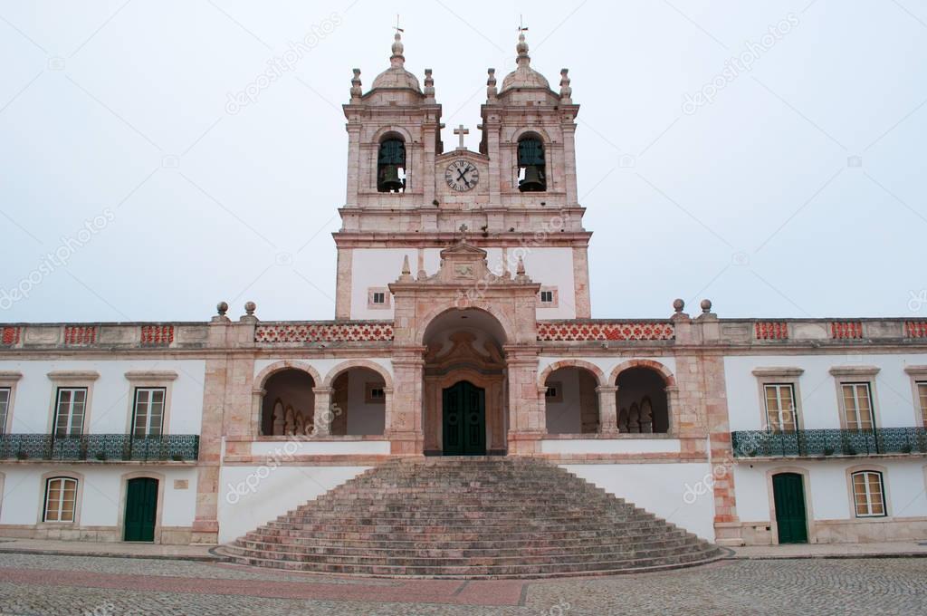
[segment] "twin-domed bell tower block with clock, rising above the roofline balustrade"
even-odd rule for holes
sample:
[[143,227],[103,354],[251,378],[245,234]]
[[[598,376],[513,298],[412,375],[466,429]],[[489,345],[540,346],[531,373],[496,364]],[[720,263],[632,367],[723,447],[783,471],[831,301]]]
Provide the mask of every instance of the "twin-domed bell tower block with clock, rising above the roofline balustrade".
[[553,92],[531,67],[520,29],[516,66],[501,89],[489,69],[479,151],[464,147],[464,124],[454,129],[460,144],[444,151],[432,71],[425,69],[423,88],[405,69],[396,30],[387,70],[364,92],[354,69],[343,106],[349,155],[342,225],[333,234],[336,318],[392,318],[388,285],[403,263],[416,278],[434,275],[462,226],[495,275],[511,275],[521,261],[540,282],[538,318],[589,317],[591,234],[577,199],[579,107],[567,71]]

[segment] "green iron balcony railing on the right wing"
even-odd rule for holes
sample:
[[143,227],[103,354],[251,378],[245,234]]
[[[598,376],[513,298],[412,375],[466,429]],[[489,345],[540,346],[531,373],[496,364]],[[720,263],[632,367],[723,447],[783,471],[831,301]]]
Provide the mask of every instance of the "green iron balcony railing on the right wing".
[[874,430],[739,430],[730,433],[735,457],[927,454],[927,428]]

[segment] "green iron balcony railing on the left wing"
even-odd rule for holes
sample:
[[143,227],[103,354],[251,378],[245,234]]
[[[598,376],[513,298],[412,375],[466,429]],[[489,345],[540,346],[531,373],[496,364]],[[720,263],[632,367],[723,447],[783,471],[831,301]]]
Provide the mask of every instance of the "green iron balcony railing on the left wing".
[[194,462],[198,457],[197,434],[0,434],[3,460]]

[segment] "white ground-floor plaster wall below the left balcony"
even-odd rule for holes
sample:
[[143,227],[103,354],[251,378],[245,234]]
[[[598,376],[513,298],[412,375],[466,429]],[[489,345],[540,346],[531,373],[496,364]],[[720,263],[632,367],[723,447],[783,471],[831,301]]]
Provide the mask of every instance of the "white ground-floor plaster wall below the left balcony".
[[[192,526],[197,512],[197,469],[157,468],[135,465],[92,466],[89,464],[57,466],[44,464],[0,465],[6,475],[3,499],[0,500],[0,524],[36,524],[42,520],[45,482],[42,476],[54,471],[72,471],[83,475],[78,503],[81,526],[116,526],[120,515],[122,476],[150,471],[165,476],[161,512],[163,526]],[[188,488],[175,490],[174,480],[188,481]]]

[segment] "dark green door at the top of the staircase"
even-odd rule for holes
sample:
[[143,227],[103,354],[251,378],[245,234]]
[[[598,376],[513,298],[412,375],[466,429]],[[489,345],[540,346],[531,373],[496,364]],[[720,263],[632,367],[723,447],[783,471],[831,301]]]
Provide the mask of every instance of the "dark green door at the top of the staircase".
[[445,456],[486,456],[486,391],[465,380],[444,390]]

